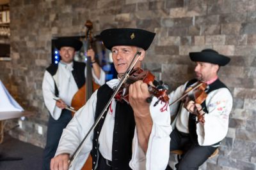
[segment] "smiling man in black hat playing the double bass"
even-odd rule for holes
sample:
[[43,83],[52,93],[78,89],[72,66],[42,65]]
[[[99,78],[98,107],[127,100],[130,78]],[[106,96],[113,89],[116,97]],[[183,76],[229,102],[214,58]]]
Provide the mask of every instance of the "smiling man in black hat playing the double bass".
[[[50,169],[50,162],[56,152],[61,133],[72,118],[71,112],[65,108],[67,105],[70,106],[74,94],[85,83],[85,64],[73,60],[76,51],[82,45],[82,42],[75,38],[58,38],[56,48],[60,52],[61,60],[58,64],[51,64],[47,67],[44,73],[42,91],[50,117],[43,169]],[[88,50],[88,55],[92,57],[92,74],[95,82],[100,85],[104,84],[105,73],[95,62],[95,53],[93,50]]]

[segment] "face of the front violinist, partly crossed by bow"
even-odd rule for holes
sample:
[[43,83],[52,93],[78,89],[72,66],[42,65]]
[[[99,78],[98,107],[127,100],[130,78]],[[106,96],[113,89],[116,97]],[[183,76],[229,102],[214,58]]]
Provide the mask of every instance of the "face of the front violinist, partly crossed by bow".
[[[131,63],[138,48],[136,46],[113,46],[112,47],[112,59],[115,65],[117,73],[122,76]],[[134,67],[140,67],[140,61],[143,60],[144,50],[140,55],[139,62]],[[138,57],[138,55],[137,55]]]

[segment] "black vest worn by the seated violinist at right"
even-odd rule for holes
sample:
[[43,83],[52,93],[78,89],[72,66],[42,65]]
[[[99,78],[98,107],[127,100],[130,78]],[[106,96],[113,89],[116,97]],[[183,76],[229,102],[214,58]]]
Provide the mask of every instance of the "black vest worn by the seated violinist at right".
[[[193,80],[188,81],[188,83],[186,85],[186,89],[190,85],[193,85],[193,83],[195,83],[196,81],[198,81],[198,80],[193,79]],[[217,79],[216,81],[214,81],[213,83],[208,85],[206,93],[209,94],[213,90],[217,90],[217,89],[221,89],[221,88],[227,88],[227,86],[224,83],[222,83],[219,79]],[[205,101],[201,104],[201,106],[202,106],[202,108],[204,108],[204,112],[208,113]],[[188,121],[189,121],[188,122],[189,136],[190,136],[191,140],[193,141],[193,143],[198,144],[198,140],[197,140],[198,136],[196,134],[196,115],[194,115],[192,113],[189,113],[189,120]],[[214,145],[218,145],[218,144],[220,144],[220,142],[215,143]]]

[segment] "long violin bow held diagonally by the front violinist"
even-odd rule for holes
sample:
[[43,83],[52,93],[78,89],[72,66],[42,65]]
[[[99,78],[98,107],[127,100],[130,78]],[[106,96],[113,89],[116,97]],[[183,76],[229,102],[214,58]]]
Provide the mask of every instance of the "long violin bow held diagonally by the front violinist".
[[131,61],[131,64],[127,67],[124,75],[122,76],[120,82],[118,83],[115,91],[113,92],[112,96],[110,97],[108,103],[106,104],[106,106],[104,107],[104,109],[102,110],[102,112],[100,113],[99,117],[95,120],[94,124],[92,125],[92,127],[89,129],[89,131],[87,132],[87,134],[84,136],[83,140],[81,141],[81,143],[77,146],[75,152],[71,155],[70,159],[68,160],[68,164],[69,164],[69,167],[72,167],[72,163],[74,162],[74,160],[76,159],[77,155],[79,152],[81,152],[81,149],[82,149],[82,146],[84,144],[84,141],[88,138],[90,132],[93,131],[93,129],[95,129],[95,127],[99,124],[100,122],[100,118],[104,118],[104,113],[108,110],[108,107],[111,103],[111,101],[114,99],[114,97],[116,96],[118,90],[122,87],[122,84],[124,83],[125,80],[127,80],[129,74],[131,73],[132,71],[132,68],[135,66],[135,64],[138,62],[139,58],[140,57],[137,57],[137,55],[141,55],[141,52],[136,52],[132,61]]

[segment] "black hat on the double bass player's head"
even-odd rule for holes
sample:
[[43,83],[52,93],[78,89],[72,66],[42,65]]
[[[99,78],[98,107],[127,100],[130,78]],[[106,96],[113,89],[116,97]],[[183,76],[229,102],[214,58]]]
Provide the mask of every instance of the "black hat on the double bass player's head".
[[76,51],[80,50],[80,48],[82,47],[83,43],[81,41],[79,41],[76,38],[71,38],[71,37],[61,37],[56,39],[55,41],[55,46],[58,50],[60,50],[60,48],[62,46],[71,46],[73,48],[75,48]]

